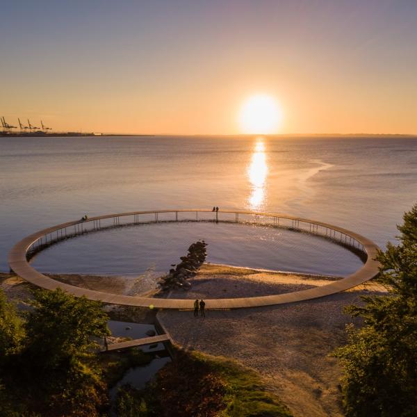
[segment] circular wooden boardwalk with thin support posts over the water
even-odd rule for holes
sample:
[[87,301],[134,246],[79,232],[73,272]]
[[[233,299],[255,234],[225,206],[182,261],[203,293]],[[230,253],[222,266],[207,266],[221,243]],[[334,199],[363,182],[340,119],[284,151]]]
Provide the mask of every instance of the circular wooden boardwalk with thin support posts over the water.
[[[113,218],[115,225],[120,225],[120,218],[133,215],[134,221],[138,221],[139,215],[145,214],[154,214],[155,221],[158,222],[158,214],[160,213],[176,213],[175,220],[170,221],[179,221],[179,213],[213,213],[215,215],[215,220],[218,221],[230,221],[222,220],[219,215],[222,214],[235,214],[236,222],[239,222],[238,215],[254,215],[256,221],[259,221],[259,216],[275,218],[274,225],[276,227],[282,227],[282,224],[279,224],[280,219],[292,220],[293,228],[300,229],[300,222],[304,224],[310,224],[310,231],[306,229],[301,229],[309,233],[318,234],[318,228],[321,227],[323,230],[322,236],[327,236],[328,238],[335,238],[335,234],[340,234],[340,241],[345,245],[355,246],[357,243],[357,249],[363,250],[366,253],[367,259],[366,263],[354,274],[349,275],[338,281],[332,281],[332,283],[325,286],[320,286],[316,288],[309,288],[303,291],[295,291],[293,293],[285,293],[278,295],[265,295],[261,297],[242,297],[242,298],[219,298],[206,300],[206,309],[233,309],[233,308],[244,308],[250,306],[268,306],[274,304],[285,304],[288,302],[298,302],[303,300],[311,300],[313,298],[324,297],[325,295],[331,295],[341,291],[345,291],[349,288],[363,284],[363,282],[368,281],[375,277],[379,272],[379,263],[375,260],[379,248],[372,240],[361,236],[353,231],[344,229],[342,227],[336,227],[332,224],[325,222],[318,222],[316,220],[309,220],[306,218],[297,218],[292,215],[286,215],[281,213],[263,213],[255,211],[236,211],[236,210],[219,210],[218,212],[212,212],[208,209],[201,208],[192,208],[192,209],[169,209],[169,210],[154,210],[154,211],[132,211],[129,213],[115,213],[110,215],[101,215],[87,220],[75,220],[72,222],[66,222],[62,224],[57,224],[56,226],[48,227],[47,229],[42,229],[26,238],[20,240],[16,245],[10,250],[8,255],[8,262],[10,265],[10,270],[13,270],[16,275],[26,279],[26,281],[40,286],[41,288],[54,290],[56,288],[62,288],[64,291],[72,293],[77,297],[85,296],[90,300],[97,300],[101,302],[111,303],[111,304],[124,304],[130,306],[142,306],[158,309],[192,309],[193,300],[182,300],[182,299],[165,299],[165,298],[148,298],[148,297],[134,297],[131,295],[117,295],[111,293],[103,293],[101,291],[88,290],[86,288],[80,288],[77,286],[72,286],[70,284],[65,284],[63,282],[56,281],[46,275],[41,274],[35,270],[27,260],[27,254],[29,250],[42,250],[44,245],[49,245],[60,239],[68,237],[67,228],[74,227],[75,233],[70,234],[70,236],[83,233],[84,224],[93,224],[95,230],[101,228],[101,220],[106,220]],[[189,219],[187,219],[189,220]],[[214,220],[214,219],[213,219]],[[198,220],[195,220],[198,221]],[[278,222],[278,224],[277,224]],[[311,225],[313,225],[313,232],[311,232]],[[333,231],[334,235],[325,235],[324,229],[327,231]],[[59,235],[60,231],[60,235]],[[65,231],[65,234],[64,234]],[[56,232],[56,239],[52,237],[52,234]],[[50,235],[50,240],[48,243],[47,237]],[[343,242],[343,236],[345,236],[345,242]],[[43,243],[42,238],[46,238],[45,243]],[[347,240],[349,237],[349,240]]]

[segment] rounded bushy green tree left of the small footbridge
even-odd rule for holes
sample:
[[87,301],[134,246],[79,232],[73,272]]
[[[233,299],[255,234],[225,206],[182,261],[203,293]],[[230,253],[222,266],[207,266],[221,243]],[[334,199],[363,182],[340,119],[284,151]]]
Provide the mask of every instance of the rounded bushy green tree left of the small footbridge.
[[36,291],[31,304],[34,309],[26,317],[20,368],[28,395],[42,398],[35,411],[51,416],[98,416],[107,396],[94,338],[110,334],[101,304],[60,289]]

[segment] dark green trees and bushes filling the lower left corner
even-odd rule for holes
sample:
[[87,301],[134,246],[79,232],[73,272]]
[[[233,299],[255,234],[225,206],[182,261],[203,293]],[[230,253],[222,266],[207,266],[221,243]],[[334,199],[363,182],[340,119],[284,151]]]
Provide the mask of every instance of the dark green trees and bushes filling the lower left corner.
[[93,338],[109,334],[101,304],[59,289],[35,291],[32,308],[20,317],[3,297],[0,395],[8,410],[4,415],[99,416],[107,405],[107,387]]

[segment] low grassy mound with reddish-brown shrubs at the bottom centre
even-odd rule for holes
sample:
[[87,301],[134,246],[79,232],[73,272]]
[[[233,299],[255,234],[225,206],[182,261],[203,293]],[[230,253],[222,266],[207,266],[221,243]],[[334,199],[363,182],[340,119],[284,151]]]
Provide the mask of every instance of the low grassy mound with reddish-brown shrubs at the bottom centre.
[[117,396],[120,417],[289,417],[291,412],[265,388],[261,376],[224,357],[174,349],[174,360],[144,390],[124,386]]

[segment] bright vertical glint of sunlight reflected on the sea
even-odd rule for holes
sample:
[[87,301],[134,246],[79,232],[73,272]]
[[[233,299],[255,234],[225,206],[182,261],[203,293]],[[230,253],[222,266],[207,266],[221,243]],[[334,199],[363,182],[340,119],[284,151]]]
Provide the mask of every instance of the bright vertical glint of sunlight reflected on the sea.
[[252,184],[252,193],[249,197],[251,208],[259,208],[265,200],[265,181],[268,174],[266,164],[265,143],[263,138],[256,138],[252,161],[247,169],[247,176]]

